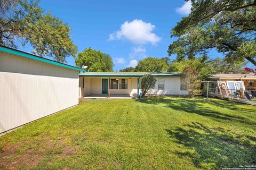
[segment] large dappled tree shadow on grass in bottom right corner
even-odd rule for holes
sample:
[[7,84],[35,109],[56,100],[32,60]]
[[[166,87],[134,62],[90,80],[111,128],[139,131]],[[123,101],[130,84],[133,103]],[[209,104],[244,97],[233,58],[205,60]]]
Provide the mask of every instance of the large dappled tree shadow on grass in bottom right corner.
[[256,148],[251,139],[222,128],[209,129],[193,122],[185,124],[184,129],[166,129],[166,132],[175,142],[186,147],[175,154],[190,159],[198,168],[220,169],[256,164]]

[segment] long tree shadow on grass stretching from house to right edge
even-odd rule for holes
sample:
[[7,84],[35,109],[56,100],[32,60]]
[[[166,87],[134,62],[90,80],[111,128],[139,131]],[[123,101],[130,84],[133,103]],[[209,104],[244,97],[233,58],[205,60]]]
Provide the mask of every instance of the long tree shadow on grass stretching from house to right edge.
[[183,98],[149,97],[149,98],[141,99],[137,101],[141,103],[153,104],[153,105],[165,104],[166,107],[175,109],[177,111],[185,111],[187,113],[193,113],[193,114],[211,117],[211,118],[214,118],[216,121],[222,121],[222,120],[234,121],[234,122],[240,122],[243,124],[250,124],[252,126],[256,126],[255,121],[249,120],[246,117],[226,114],[226,113],[218,112],[214,110],[214,107],[219,107],[219,108],[227,108],[227,109],[236,111],[236,113],[250,112],[251,114],[256,114],[255,110],[248,109],[248,108],[239,108],[238,106],[243,104],[237,104],[230,101],[221,101],[221,102],[211,101],[205,104],[203,103],[202,98],[189,99],[186,97],[183,97]]

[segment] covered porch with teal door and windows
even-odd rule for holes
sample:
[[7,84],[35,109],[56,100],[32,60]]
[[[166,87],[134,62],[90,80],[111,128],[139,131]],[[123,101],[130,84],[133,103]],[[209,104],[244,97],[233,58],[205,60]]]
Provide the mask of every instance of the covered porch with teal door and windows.
[[[142,75],[79,74],[81,98],[138,98]],[[105,73],[106,74],[106,73]]]

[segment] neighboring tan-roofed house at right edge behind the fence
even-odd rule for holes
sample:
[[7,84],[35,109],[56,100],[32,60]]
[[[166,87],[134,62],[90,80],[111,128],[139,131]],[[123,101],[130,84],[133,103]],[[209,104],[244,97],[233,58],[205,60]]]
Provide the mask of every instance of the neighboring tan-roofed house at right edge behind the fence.
[[229,89],[235,89],[235,82],[242,81],[245,90],[256,90],[255,74],[213,74],[208,79],[213,81],[226,81]]

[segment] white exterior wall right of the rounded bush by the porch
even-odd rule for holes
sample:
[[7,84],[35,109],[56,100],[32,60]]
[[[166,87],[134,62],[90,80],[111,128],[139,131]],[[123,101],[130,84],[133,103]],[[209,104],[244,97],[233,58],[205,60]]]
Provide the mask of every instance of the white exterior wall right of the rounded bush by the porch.
[[[158,79],[164,79],[164,90],[158,90]],[[180,90],[180,77],[156,77],[154,89],[150,89],[147,95],[188,95],[186,90]]]

